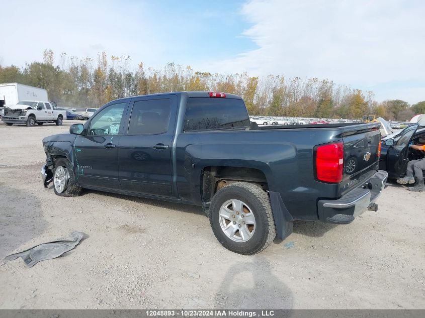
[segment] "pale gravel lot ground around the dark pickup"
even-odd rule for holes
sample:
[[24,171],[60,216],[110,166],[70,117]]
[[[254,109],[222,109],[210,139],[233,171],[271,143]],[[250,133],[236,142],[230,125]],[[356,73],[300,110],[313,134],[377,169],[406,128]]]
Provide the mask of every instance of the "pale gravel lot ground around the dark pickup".
[[425,193],[391,184],[346,226],[296,222],[255,256],[224,249],[199,207],[44,189],[41,139],[0,124],[0,259],[81,231],[62,257],[0,266],[0,308],[425,308]]

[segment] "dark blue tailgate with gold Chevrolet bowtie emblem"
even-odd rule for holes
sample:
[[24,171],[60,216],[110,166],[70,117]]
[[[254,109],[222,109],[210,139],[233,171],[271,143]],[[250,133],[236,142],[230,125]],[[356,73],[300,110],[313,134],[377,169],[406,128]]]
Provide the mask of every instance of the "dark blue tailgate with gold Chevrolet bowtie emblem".
[[343,133],[344,177],[339,193],[344,194],[376,172],[381,144],[379,123],[347,127]]

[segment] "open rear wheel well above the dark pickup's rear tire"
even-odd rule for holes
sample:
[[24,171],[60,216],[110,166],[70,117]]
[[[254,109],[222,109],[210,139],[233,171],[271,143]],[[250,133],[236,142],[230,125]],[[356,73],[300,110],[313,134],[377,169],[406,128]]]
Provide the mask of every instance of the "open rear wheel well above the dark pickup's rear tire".
[[207,205],[213,195],[222,187],[239,181],[256,183],[268,190],[266,175],[263,171],[243,167],[206,167],[202,172],[202,200]]

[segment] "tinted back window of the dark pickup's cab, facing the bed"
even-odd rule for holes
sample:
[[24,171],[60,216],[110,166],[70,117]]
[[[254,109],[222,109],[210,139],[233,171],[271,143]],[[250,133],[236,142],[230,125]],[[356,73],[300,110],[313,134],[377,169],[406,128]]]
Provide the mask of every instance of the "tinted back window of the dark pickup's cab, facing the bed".
[[184,131],[249,127],[242,99],[190,97],[186,106]]

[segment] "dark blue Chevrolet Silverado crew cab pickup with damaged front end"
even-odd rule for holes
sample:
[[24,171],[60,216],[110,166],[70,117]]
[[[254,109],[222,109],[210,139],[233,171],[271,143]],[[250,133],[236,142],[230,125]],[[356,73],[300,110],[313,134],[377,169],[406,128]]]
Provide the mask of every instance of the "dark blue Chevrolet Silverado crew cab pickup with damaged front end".
[[294,220],[349,224],[377,207],[379,126],[259,128],[233,94],[128,97],[44,138],[41,174],[61,196],[88,188],[202,206],[224,247],[254,254]]

